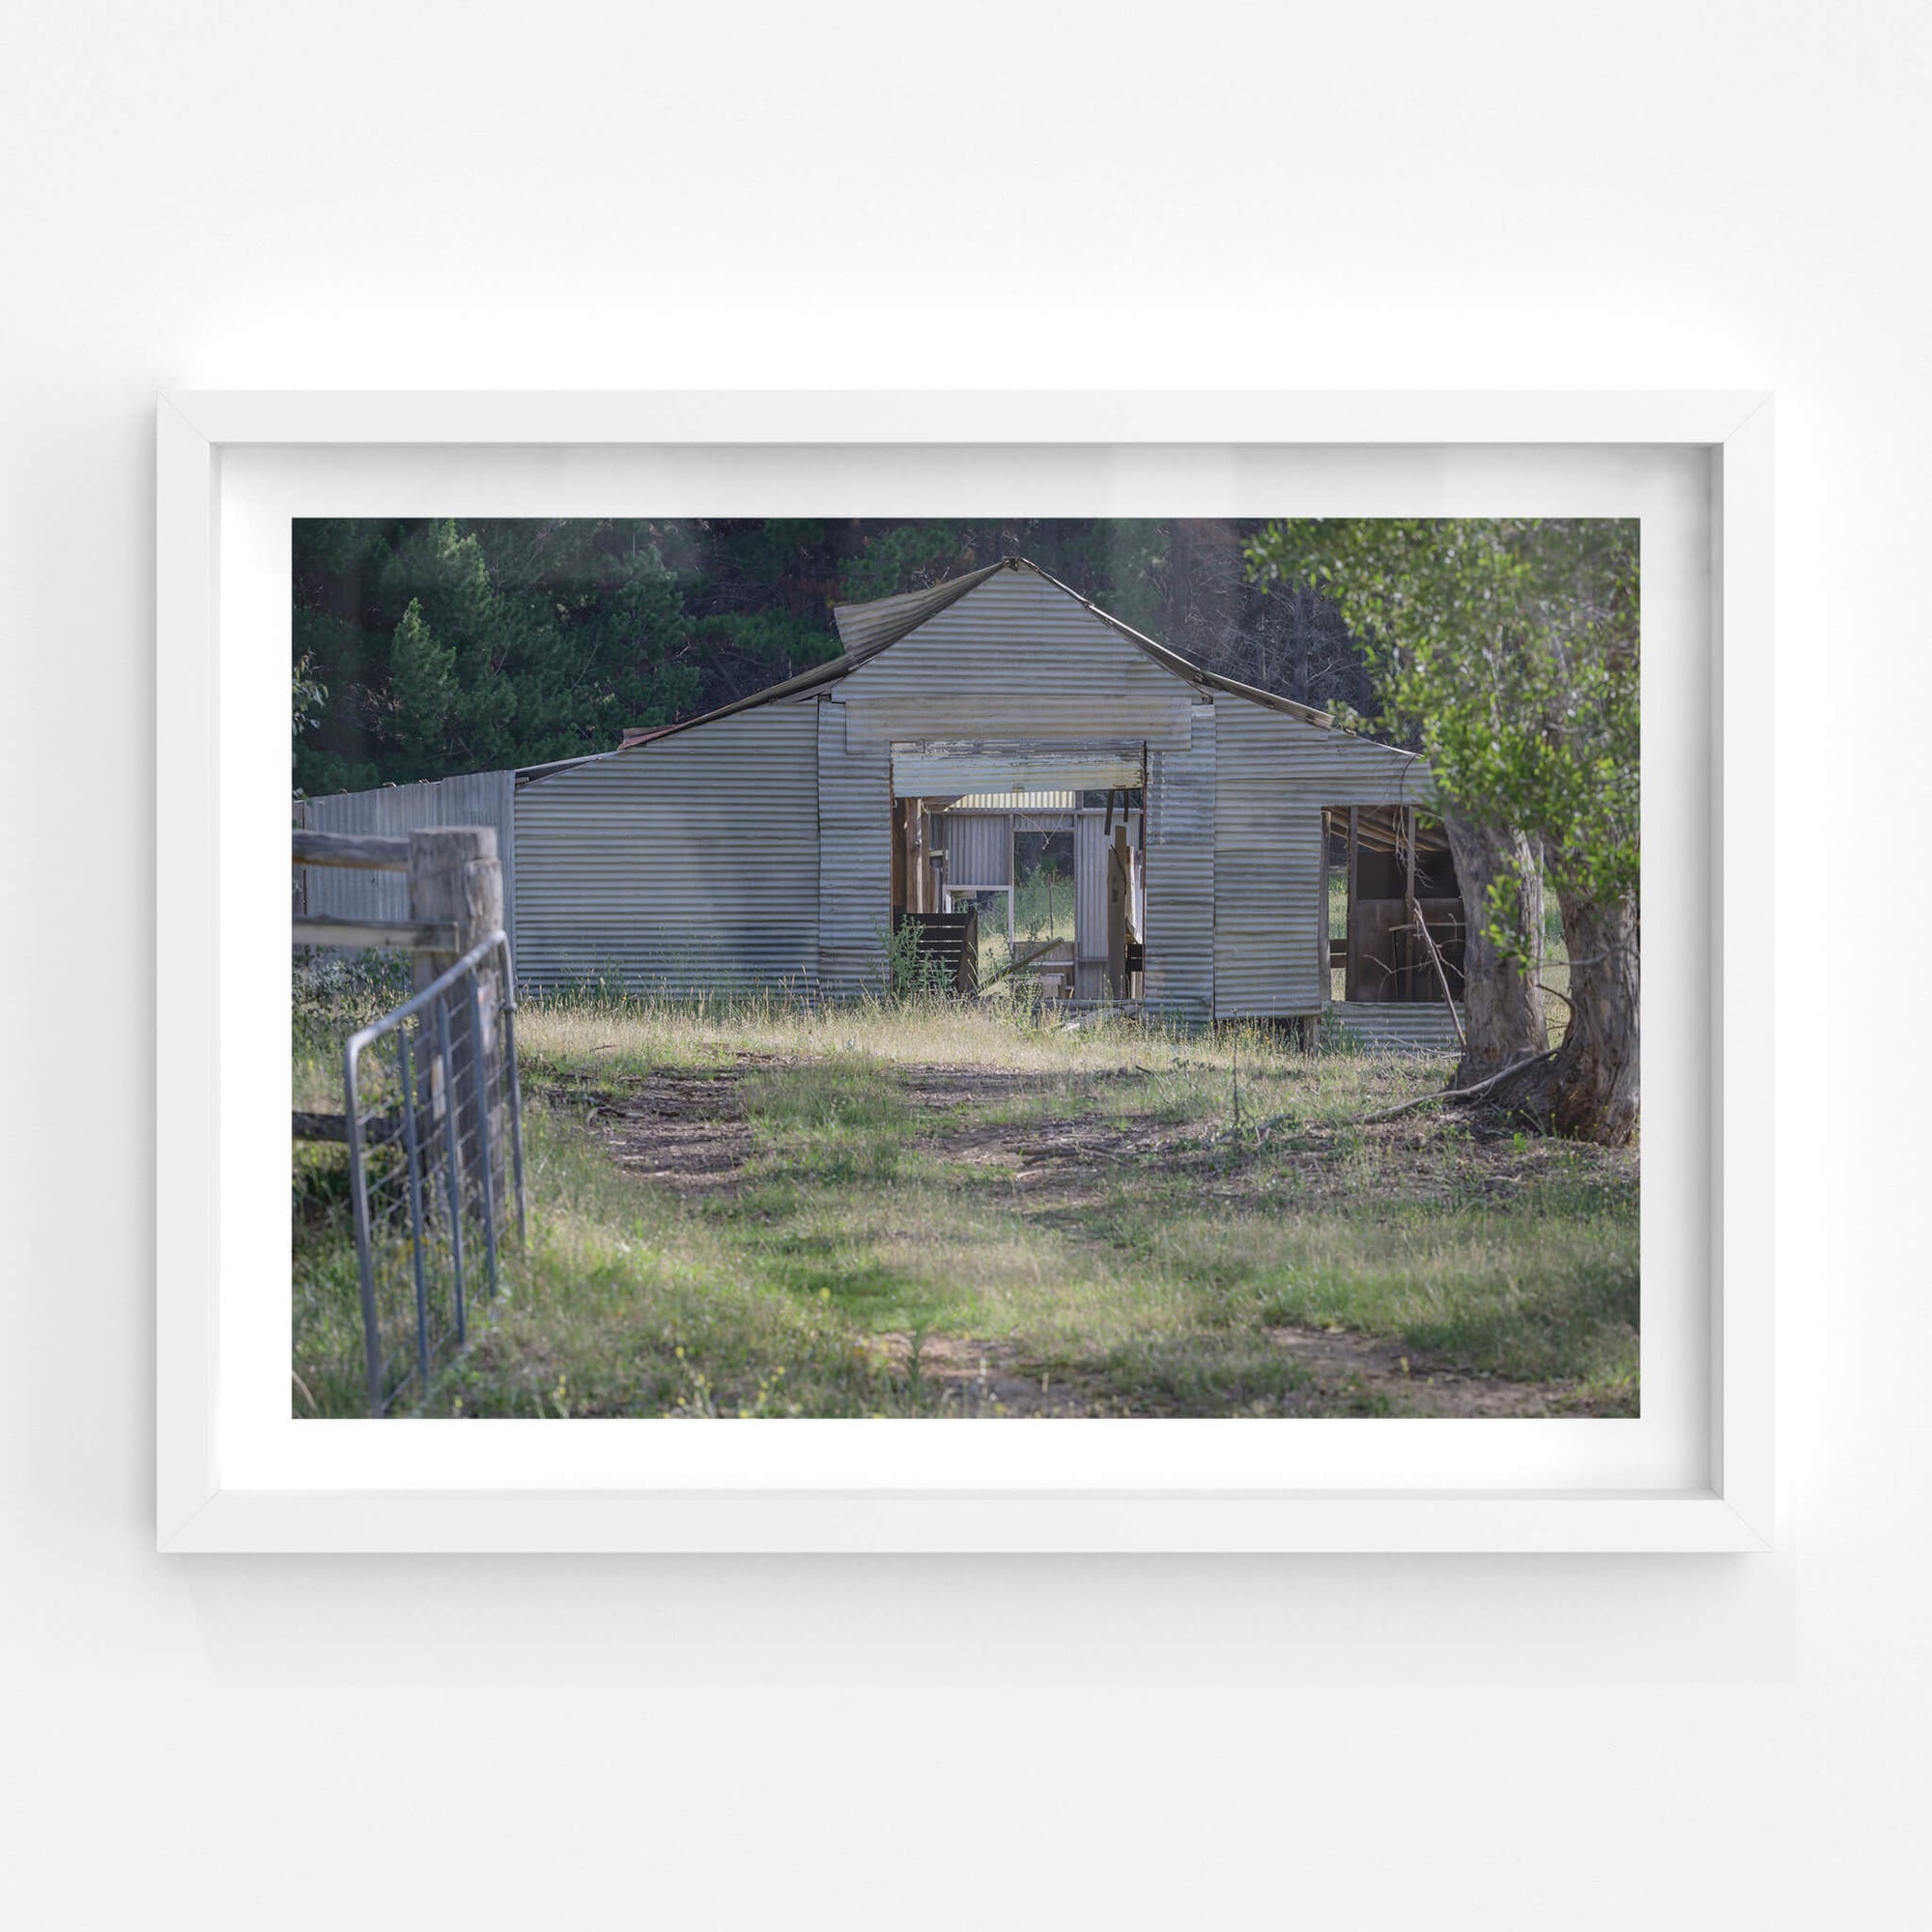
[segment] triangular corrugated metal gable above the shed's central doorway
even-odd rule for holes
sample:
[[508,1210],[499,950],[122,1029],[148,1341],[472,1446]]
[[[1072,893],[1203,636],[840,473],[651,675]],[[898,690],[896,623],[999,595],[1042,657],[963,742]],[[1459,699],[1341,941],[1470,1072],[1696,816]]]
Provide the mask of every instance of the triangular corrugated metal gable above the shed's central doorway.
[[838,690],[854,744],[1101,738],[1175,750],[1188,742],[1192,699],[1113,626],[1022,570],[997,570]]

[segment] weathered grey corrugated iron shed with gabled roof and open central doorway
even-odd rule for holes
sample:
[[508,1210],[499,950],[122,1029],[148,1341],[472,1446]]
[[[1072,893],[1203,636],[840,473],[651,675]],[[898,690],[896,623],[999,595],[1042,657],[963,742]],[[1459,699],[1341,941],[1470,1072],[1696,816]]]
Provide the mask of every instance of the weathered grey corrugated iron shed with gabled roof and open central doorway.
[[[1323,810],[1426,804],[1420,759],[1202,670],[1024,560],[835,618],[837,659],[518,788],[520,972],[873,991],[906,873],[895,798],[1144,788],[1148,1005],[1206,1020],[1327,1003]],[[987,823],[1010,838],[1018,817]],[[1072,823],[1092,900],[1099,827]],[[1010,879],[1010,854],[958,827],[960,887]],[[1097,970],[1078,962],[1082,997]]]

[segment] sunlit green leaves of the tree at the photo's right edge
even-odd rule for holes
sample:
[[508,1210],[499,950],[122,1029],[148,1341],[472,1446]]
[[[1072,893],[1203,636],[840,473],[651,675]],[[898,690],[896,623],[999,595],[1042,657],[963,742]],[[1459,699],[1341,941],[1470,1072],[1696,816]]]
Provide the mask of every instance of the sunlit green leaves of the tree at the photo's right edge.
[[[1376,682],[1356,723],[1420,746],[1451,810],[1540,840],[1559,893],[1634,898],[1634,522],[1298,518],[1248,556],[1341,611]],[[1497,943],[1519,951],[1509,891],[1492,898]]]

